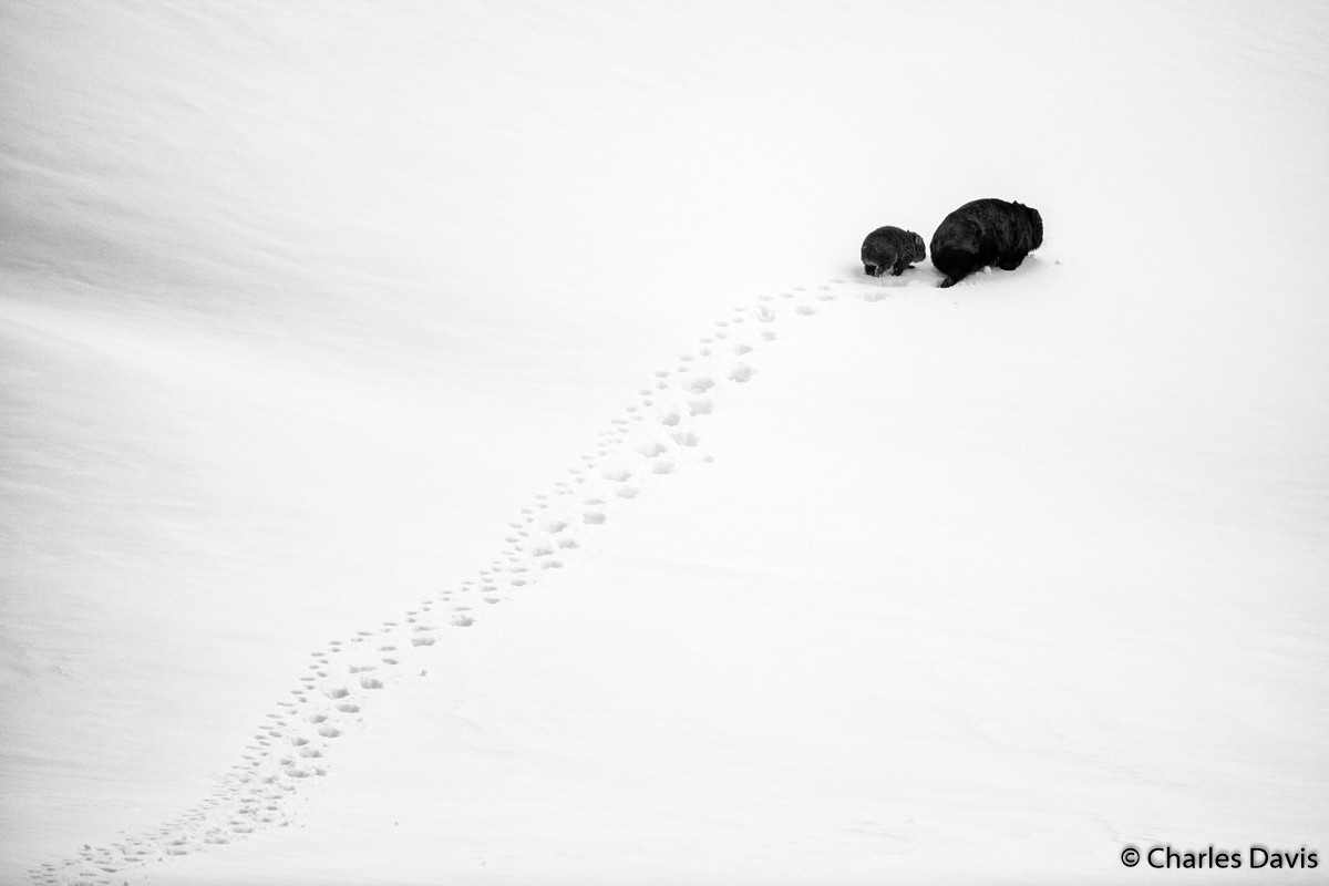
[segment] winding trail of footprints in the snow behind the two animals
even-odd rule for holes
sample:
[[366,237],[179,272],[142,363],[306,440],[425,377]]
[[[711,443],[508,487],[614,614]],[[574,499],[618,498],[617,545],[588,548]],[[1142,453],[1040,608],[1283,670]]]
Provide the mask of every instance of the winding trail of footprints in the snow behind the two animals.
[[706,422],[728,393],[758,377],[752,359],[777,339],[781,319],[816,316],[837,300],[878,302],[888,288],[832,280],[762,296],[716,319],[694,349],[643,379],[566,476],[508,522],[504,547],[485,569],[395,620],[311,651],[307,672],[255,724],[239,760],[202,802],[155,830],[44,862],[31,870],[33,882],[118,885],[148,862],[288,826],[292,798],[332,773],[339,740],[364,723],[384,688],[427,675],[429,647],[445,630],[470,627],[484,610],[516,599],[573,562],[598,526],[651,485],[711,461],[702,448]]

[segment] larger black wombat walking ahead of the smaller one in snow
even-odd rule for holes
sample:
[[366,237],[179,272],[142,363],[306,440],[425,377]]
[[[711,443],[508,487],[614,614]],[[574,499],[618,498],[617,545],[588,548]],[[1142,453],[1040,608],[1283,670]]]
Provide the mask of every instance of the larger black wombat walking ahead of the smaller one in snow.
[[987,198],[942,219],[932,235],[932,263],[946,275],[941,286],[954,286],[990,264],[1014,271],[1042,244],[1043,217],[1037,209]]

